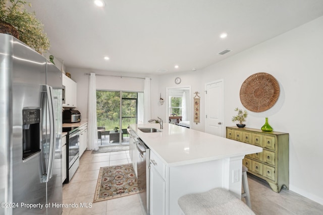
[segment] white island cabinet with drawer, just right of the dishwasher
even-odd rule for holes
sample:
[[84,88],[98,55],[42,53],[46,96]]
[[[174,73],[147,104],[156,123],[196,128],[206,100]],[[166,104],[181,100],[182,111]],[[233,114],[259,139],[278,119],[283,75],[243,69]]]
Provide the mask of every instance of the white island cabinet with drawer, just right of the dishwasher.
[[166,214],[166,165],[150,151],[150,214]]

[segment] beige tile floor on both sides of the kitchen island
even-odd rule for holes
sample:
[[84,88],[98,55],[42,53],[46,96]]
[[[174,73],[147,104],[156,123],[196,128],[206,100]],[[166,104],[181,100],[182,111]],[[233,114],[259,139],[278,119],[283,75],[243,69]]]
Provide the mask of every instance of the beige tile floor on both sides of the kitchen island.
[[[91,154],[85,151],[80,166],[69,184],[63,185],[63,203],[92,203],[100,167],[130,163],[129,151]],[[265,182],[248,176],[252,210],[256,214],[323,214],[323,205],[311,201],[293,191],[271,190]],[[63,214],[140,214],[142,208],[138,194],[92,203],[91,208],[64,208]]]

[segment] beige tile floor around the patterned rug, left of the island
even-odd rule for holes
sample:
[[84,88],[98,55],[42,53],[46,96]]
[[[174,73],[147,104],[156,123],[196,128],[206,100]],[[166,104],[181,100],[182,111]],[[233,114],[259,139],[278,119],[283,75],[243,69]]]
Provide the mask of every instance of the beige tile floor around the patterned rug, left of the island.
[[[92,203],[100,167],[130,163],[129,151],[91,154],[85,151],[80,159],[80,166],[72,180],[63,185],[63,203]],[[138,194],[92,203],[91,208],[63,208],[63,215],[123,215],[140,214],[142,208]]]

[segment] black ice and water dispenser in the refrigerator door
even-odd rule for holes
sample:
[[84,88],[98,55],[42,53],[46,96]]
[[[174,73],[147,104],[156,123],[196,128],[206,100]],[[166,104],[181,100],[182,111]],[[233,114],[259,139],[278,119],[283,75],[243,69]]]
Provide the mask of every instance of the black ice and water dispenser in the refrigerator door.
[[40,109],[22,110],[23,160],[40,152]]

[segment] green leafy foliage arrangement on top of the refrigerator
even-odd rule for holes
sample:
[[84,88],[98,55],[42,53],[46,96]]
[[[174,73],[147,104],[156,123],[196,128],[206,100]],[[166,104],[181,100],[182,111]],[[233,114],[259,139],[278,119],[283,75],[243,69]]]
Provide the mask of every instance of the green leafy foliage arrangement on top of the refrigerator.
[[[50,44],[43,24],[35,12],[28,12],[24,0],[0,0],[0,21],[9,23],[19,32],[19,40],[37,52],[46,52]],[[31,7],[31,4],[28,4]]]

